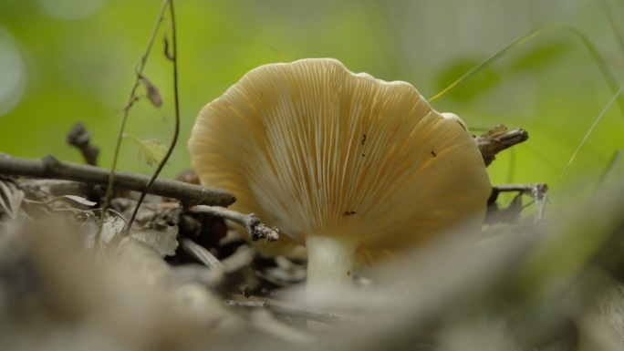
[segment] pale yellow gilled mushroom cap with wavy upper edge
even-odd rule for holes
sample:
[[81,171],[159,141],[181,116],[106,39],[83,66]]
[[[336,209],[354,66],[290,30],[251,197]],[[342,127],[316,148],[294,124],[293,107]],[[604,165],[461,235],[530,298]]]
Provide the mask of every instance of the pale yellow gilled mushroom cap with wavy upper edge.
[[330,58],[251,70],[202,109],[188,147],[204,185],[279,228],[261,243],[274,252],[336,235],[369,263],[458,223],[478,228],[491,192],[461,119]]

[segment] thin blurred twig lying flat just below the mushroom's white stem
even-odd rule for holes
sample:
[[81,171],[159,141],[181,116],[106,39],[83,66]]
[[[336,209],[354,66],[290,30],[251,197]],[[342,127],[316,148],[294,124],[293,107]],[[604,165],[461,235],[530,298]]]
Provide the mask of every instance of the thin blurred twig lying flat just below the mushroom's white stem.
[[278,315],[288,315],[300,318],[312,319],[319,322],[339,321],[362,323],[366,317],[362,315],[353,315],[347,312],[328,310],[325,308],[310,307],[307,305],[296,305],[285,303],[282,301],[265,299],[265,300],[225,300],[225,305],[234,305],[241,307],[266,308]]

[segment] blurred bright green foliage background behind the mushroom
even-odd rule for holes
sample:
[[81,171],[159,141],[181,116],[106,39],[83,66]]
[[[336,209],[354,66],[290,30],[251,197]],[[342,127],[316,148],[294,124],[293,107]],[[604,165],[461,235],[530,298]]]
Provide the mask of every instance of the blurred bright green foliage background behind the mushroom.
[[[336,57],[352,71],[408,81],[431,98],[532,29],[561,23],[583,31],[624,82],[621,0],[185,0],[175,5],[182,134],[163,170],[166,177],[190,166],[185,144],[200,108],[266,63]],[[0,0],[0,152],[82,161],[65,135],[83,121],[101,148],[99,164],[109,167],[120,109],[160,7],[160,1],[145,0]],[[136,104],[127,131],[168,143],[172,78],[162,33],[145,75],[161,90],[163,107],[159,111],[145,100]],[[433,107],[460,115],[474,133],[498,123],[527,129],[528,142],[504,152],[489,168],[492,180],[545,181],[556,199],[593,189],[623,148],[624,115],[613,105],[560,176],[612,95],[581,42],[565,31],[549,31]],[[137,161],[130,140],[124,140],[119,168],[151,171]]]

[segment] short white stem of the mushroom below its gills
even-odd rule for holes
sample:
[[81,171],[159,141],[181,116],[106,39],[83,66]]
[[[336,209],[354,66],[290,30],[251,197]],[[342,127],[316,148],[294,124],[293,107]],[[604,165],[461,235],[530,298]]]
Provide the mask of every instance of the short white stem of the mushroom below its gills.
[[341,236],[310,235],[307,246],[307,289],[353,283],[355,243]]

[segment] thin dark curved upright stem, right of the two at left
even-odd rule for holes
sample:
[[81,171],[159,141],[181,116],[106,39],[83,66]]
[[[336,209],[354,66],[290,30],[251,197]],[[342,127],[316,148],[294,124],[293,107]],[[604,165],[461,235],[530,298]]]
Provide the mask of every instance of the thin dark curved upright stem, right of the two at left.
[[[169,149],[167,150],[167,153],[162,158],[161,163],[159,163],[154,173],[151,175],[150,181],[147,184],[145,184],[145,188],[140,193],[139,201],[137,201],[137,205],[134,208],[134,211],[132,212],[130,221],[127,224],[127,229],[130,229],[130,227],[132,226],[132,222],[134,222],[134,219],[137,217],[137,213],[139,212],[139,208],[140,208],[140,203],[143,201],[143,199],[145,198],[145,195],[148,193],[148,190],[150,189],[151,184],[154,181],[156,181],[156,179],[158,178],[158,175],[161,173],[162,168],[164,167],[165,164],[167,164],[167,160],[169,160],[169,158],[172,156],[173,149],[175,149],[175,145],[178,142],[178,136],[180,135],[180,99],[178,95],[178,46],[177,46],[176,32],[175,32],[175,12],[173,11],[173,0],[165,0],[165,4],[166,3],[169,3],[169,13],[171,15],[171,21],[172,21],[172,55],[168,55],[167,57],[169,57],[173,63],[173,106],[174,106],[174,116],[175,116],[175,129],[173,130],[172,143],[169,145]],[[161,12],[161,17],[158,22],[159,24],[161,23],[162,15],[163,15],[163,12]],[[154,33],[155,32],[156,32],[156,29],[154,28]],[[153,40],[153,36],[152,36],[152,40]]]

